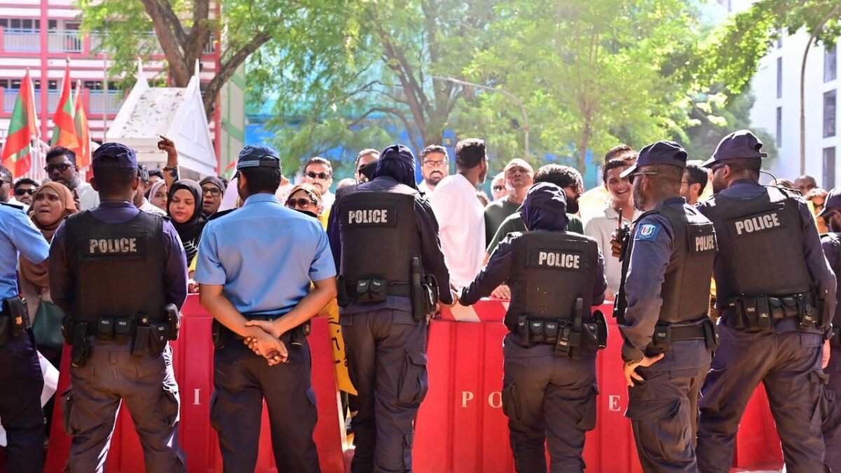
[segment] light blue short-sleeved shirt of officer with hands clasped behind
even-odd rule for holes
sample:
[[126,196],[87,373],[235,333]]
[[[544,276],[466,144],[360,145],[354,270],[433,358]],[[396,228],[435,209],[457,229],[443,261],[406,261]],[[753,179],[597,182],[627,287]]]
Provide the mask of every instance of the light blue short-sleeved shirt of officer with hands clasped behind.
[[282,314],[309,293],[310,281],[336,275],[320,222],[254,194],[241,209],[209,221],[198,244],[195,281],[223,284],[241,313]]

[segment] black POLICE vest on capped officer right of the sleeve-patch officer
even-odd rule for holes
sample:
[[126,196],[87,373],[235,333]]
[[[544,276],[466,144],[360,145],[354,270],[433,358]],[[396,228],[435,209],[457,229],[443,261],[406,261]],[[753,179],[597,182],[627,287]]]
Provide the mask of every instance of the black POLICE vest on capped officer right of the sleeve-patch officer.
[[712,221],[718,235],[718,256],[724,267],[716,279],[718,300],[811,289],[797,200],[777,188],[765,190],[749,200],[716,195],[698,209]]

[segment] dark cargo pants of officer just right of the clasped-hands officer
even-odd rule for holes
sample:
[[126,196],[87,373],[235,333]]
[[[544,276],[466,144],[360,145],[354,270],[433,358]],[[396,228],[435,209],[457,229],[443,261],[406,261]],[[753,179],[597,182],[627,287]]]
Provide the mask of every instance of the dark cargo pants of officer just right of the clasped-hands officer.
[[342,314],[341,335],[358,393],[351,470],[411,470],[415,414],[428,388],[426,321],[392,309]]

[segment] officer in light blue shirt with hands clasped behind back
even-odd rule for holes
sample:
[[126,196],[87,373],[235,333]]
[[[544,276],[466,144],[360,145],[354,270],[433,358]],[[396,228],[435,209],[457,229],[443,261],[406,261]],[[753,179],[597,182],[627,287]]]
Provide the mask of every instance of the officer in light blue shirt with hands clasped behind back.
[[[223,469],[254,471],[265,399],[278,470],[320,471],[306,333],[309,319],[336,297],[336,266],[319,221],[275,197],[274,150],[246,146],[236,169],[245,204],[204,227],[195,274],[202,306],[215,319],[210,423]],[[265,358],[243,343],[251,341]]]

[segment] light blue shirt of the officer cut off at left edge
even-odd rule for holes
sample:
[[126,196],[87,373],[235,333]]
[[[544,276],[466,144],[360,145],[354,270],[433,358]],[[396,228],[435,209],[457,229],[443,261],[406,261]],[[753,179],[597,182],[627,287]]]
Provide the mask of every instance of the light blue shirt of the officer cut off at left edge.
[[19,294],[18,254],[41,263],[50,255],[50,243],[23,210],[0,205],[0,299]]

